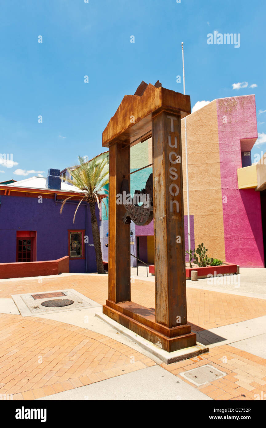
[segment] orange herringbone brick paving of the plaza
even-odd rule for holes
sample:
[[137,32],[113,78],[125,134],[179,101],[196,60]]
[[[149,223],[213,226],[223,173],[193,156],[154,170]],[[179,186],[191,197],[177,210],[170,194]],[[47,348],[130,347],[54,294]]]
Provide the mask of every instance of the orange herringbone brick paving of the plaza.
[[[0,299],[12,294],[74,288],[99,304],[107,297],[108,276],[65,275],[0,282]],[[135,279],[132,301],[154,307],[154,283]],[[239,294],[187,288],[188,320],[192,331],[204,332],[266,315],[266,300]],[[266,392],[266,360],[234,348],[210,347],[201,356],[166,365],[106,335],[52,319],[0,314],[0,394],[14,400],[34,400],[130,372],[160,365],[192,388],[214,400],[254,400]],[[133,362],[132,362],[133,361]],[[225,376],[196,386],[180,373],[211,364]]]

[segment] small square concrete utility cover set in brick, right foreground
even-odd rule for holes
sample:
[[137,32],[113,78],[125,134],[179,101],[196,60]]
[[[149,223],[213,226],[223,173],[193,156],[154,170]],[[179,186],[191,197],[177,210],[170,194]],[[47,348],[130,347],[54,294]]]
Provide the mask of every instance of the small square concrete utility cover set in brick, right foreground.
[[221,370],[215,369],[209,364],[179,374],[197,386],[205,385],[205,383],[213,382],[213,380],[220,379],[220,377],[227,375],[227,373],[221,372]]

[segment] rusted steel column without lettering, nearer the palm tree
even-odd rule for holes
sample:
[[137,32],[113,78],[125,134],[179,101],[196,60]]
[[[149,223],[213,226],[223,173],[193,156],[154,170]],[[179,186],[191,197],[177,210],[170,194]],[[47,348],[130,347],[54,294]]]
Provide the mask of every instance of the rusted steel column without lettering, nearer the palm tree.
[[130,146],[109,147],[109,300],[130,300],[130,224],[123,223],[124,205],[117,205],[123,176],[130,173]]

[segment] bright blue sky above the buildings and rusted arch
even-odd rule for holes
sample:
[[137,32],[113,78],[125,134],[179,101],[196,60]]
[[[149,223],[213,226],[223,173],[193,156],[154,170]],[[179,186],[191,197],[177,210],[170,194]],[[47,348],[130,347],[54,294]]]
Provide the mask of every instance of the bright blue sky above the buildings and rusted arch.
[[[183,92],[181,42],[191,107],[255,94],[251,155],[266,151],[265,0],[1,0],[0,15],[0,152],[15,162],[0,181],[105,151],[103,129],[142,80]],[[240,33],[240,47],[208,45],[215,30]]]

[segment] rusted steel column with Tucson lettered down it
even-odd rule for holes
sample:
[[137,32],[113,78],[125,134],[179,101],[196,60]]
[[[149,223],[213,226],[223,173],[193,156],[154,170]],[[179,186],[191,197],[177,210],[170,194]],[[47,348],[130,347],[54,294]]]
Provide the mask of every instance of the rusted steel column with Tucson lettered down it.
[[152,119],[156,321],[187,324],[181,118]]

